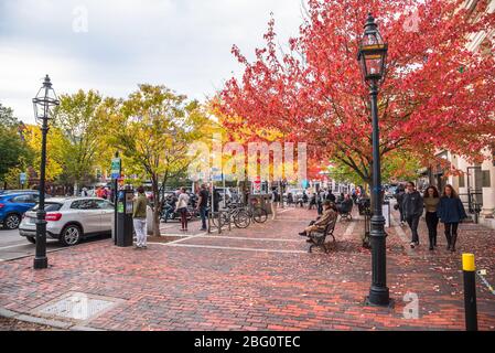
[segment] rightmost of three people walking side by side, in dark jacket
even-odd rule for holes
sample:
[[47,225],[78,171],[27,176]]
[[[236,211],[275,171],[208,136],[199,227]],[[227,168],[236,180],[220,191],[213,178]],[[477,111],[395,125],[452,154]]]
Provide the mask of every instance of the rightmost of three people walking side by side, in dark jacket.
[[446,249],[455,252],[455,243],[458,242],[459,223],[467,218],[461,199],[452,185],[443,189],[443,195],[437,208],[437,214],[445,226]]

